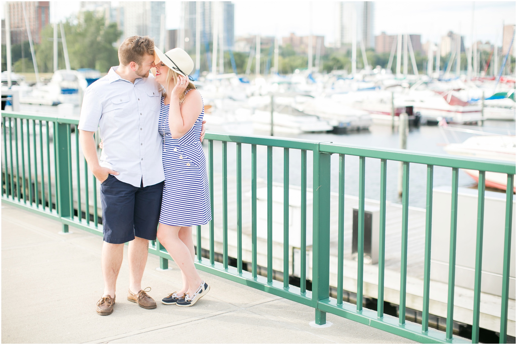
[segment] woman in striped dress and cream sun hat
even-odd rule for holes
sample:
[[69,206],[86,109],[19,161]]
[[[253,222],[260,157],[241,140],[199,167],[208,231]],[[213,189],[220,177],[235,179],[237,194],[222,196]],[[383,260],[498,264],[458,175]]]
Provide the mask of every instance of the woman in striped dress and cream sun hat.
[[183,288],[164,297],[162,303],[190,307],[210,290],[195,269],[192,242],[192,226],[211,219],[205,155],[199,140],[204,105],[189,81],[194,62],[187,52],[175,48],[164,54],[156,47],[155,52],[159,61],[154,74],[162,85],[159,131],[165,171],[157,238],[183,277]]

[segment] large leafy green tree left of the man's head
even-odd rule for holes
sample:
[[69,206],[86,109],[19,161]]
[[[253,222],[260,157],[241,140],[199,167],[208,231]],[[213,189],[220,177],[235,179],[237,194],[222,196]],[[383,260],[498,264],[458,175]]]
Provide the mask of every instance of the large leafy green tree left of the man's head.
[[[93,12],[84,12],[77,24],[67,20],[64,29],[72,69],[95,68],[101,72],[108,72],[110,67],[118,65],[117,49],[113,43],[122,32],[115,23],[105,27],[104,17],[96,17]],[[42,39],[36,59],[42,72],[50,72],[53,69],[53,41],[47,39],[53,37],[53,30],[51,25],[47,25],[41,31]],[[63,68],[62,42],[59,42],[59,51],[59,67]]]

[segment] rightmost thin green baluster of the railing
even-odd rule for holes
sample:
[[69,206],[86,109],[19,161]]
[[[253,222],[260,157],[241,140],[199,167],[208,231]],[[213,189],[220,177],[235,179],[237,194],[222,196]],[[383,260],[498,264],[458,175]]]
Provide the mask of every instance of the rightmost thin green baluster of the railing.
[[501,324],[499,328],[499,343],[507,342],[508,331],[508,299],[510,287],[510,255],[512,247],[512,212],[513,212],[513,179],[508,174],[506,179],[506,208],[505,208],[505,242],[503,249],[503,291],[501,292]]

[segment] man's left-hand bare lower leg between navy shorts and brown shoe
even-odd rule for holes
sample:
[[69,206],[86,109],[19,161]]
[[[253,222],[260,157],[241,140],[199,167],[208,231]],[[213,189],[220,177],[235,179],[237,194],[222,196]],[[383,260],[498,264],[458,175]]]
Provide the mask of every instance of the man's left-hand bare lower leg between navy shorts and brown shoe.
[[118,272],[124,255],[124,244],[104,242],[102,245],[101,267],[104,278],[104,294],[115,297]]

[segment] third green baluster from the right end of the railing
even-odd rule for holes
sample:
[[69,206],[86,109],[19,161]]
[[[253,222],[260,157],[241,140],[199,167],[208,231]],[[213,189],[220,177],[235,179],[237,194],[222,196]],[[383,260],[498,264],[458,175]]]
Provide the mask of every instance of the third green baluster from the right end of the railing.
[[452,168],[451,232],[449,242],[449,287],[447,296],[446,339],[452,339],[454,317],[454,279],[456,273],[456,230],[458,224],[458,168]]

